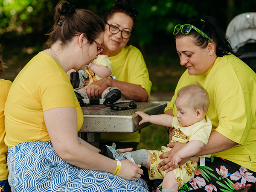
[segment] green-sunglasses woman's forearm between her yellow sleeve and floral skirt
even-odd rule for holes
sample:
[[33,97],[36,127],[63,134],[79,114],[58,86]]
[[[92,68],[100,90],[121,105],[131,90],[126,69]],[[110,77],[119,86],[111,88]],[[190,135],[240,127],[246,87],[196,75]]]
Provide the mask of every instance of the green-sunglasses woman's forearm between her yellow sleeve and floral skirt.
[[218,133],[218,131],[212,131],[208,140],[207,145],[205,145],[201,151],[196,154],[197,156],[214,154],[221,151],[225,151],[229,148],[238,145],[238,143],[233,142],[222,134]]

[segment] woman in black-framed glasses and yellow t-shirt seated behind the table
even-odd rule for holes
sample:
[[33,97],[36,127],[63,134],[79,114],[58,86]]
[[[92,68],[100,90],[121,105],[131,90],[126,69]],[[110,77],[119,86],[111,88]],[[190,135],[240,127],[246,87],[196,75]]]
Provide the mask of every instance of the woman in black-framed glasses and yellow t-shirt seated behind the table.
[[[100,79],[87,87],[89,98],[99,97],[107,87],[117,87],[126,99],[147,101],[152,83],[142,53],[127,43],[133,34],[138,10],[129,0],[117,0],[104,16],[105,33],[102,55],[108,55],[116,79]],[[101,145],[116,143],[117,148],[137,149],[139,131],[131,134],[101,134]]]

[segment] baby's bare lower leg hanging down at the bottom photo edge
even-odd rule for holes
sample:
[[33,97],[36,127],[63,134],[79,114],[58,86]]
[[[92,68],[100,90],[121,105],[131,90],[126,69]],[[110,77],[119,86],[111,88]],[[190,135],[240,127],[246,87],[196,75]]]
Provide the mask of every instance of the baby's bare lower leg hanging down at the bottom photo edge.
[[[179,187],[177,184],[177,181],[175,179],[173,171],[167,172],[166,175],[163,178],[163,183],[162,183],[162,192],[164,192],[163,189],[169,189],[172,191],[178,191]],[[167,190],[168,191],[168,190]],[[159,190],[160,192],[160,190]]]

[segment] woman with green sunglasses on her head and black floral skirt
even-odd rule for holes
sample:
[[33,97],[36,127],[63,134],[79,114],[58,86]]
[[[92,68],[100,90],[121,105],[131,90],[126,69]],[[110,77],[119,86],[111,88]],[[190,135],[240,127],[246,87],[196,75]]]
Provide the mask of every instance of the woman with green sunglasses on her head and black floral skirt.
[[[209,93],[207,116],[212,121],[209,142],[197,154],[211,154],[211,158],[200,160],[195,176],[180,190],[236,191],[251,186],[256,183],[256,74],[236,57],[212,17],[177,25],[174,35],[180,64],[187,70],[165,113],[175,116],[177,91],[198,81]],[[172,128],[167,130],[171,137]],[[183,146],[170,143],[172,150],[160,156],[166,159],[159,167],[175,169],[170,159]],[[181,160],[179,165],[187,160]]]

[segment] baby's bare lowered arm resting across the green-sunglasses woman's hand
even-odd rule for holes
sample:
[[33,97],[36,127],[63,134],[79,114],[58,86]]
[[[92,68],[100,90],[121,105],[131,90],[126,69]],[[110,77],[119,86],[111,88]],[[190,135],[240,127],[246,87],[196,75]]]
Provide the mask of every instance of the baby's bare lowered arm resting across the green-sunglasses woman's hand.
[[181,148],[177,153],[172,156],[171,163],[173,166],[180,166],[180,161],[192,157],[197,154],[204,147],[204,143],[199,140],[189,141],[185,147]]

